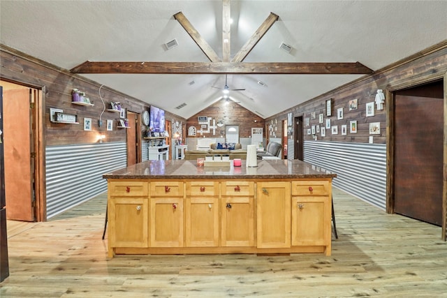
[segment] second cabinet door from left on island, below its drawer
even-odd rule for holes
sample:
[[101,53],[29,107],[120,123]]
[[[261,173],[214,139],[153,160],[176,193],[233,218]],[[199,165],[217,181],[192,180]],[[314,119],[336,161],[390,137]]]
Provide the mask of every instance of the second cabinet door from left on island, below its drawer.
[[151,198],[151,247],[183,246],[183,198]]

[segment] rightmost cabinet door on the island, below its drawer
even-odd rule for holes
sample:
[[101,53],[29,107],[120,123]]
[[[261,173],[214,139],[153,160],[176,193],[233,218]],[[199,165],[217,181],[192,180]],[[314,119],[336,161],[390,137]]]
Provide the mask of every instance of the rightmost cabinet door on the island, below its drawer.
[[[292,245],[327,245],[330,204],[327,197],[292,198]],[[330,241],[330,239],[329,239]]]

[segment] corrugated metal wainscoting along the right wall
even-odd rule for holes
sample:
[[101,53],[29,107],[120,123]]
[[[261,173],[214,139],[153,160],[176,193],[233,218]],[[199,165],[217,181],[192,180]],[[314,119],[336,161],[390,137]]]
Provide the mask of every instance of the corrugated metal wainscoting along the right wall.
[[337,188],[386,209],[386,144],[305,141],[304,159],[335,172]]

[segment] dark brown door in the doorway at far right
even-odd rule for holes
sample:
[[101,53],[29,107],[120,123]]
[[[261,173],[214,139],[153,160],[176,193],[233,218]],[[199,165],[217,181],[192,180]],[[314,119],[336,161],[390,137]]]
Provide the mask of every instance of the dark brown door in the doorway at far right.
[[443,82],[395,94],[395,212],[442,223]]

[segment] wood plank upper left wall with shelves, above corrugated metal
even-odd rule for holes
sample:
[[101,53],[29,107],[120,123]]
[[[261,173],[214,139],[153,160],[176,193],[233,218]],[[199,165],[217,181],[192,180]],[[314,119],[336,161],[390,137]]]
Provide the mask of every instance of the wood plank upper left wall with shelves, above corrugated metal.
[[[17,84],[24,84],[36,89],[45,88],[45,144],[85,144],[97,142],[98,134],[104,134],[104,142],[126,142],[126,131],[123,128],[117,128],[117,121],[114,121],[113,131],[107,131],[107,119],[118,120],[119,113],[108,112],[108,103],[120,102],[122,107],[135,113],[142,113],[143,110],[149,110],[149,104],[131,98],[119,91],[108,87],[101,88],[101,96],[105,102],[105,112],[101,119],[103,125],[98,126],[98,120],[103,111],[103,103],[99,96],[101,84],[89,80],[81,75],[73,75],[68,70],[58,68],[41,61],[17,50],[0,45],[0,67],[1,78]],[[84,91],[90,98],[94,106],[81,106],[71,103],[71,92],[73,89]],[[153,105],[157,105],[153,103]],[[64,110],[64,113],[78,115],[80,124],[55,124],[50,122],[50,108]],[[91,131],[84,131],[84,118],[91,118]],[[169,112],[166,113],[166,119],[174,121],[186,121],[182,117]],[[145,128],[142,127],[142,131]]]

